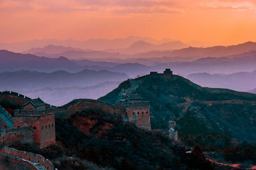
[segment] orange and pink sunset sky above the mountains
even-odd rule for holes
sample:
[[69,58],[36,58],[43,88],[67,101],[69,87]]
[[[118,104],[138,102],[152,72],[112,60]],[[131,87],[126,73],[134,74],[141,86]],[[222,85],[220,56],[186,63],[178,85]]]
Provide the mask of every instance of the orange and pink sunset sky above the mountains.
[[0,42],[125,38],[256,41],[256,0],[0,0]]

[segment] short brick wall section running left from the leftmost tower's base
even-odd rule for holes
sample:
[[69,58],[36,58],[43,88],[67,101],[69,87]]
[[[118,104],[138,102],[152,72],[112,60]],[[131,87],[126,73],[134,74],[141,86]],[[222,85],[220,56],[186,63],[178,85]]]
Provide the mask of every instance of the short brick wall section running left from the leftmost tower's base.
[[0,131],[0,146],[15,143],[33,143],[33,133],[30,127],[19,127]]

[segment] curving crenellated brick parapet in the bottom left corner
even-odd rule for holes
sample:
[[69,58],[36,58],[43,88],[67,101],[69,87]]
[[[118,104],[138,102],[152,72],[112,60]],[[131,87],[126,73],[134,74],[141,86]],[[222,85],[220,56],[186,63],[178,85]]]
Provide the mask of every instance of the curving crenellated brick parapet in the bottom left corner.
[[45,159],[42,155],[16,150],[15,148],[4,147],[3,152],[6,155],[17,157],[20,159],[28,160],[29,162],[37,162],[40,165],[44,166],[46,169],[54,170],[52,162],[48,159]]

